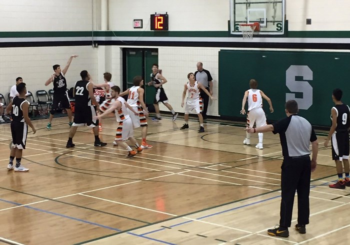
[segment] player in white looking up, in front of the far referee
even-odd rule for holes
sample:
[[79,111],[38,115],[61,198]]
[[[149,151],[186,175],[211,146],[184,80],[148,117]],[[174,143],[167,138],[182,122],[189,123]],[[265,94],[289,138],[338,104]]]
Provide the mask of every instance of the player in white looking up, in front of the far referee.
[[186,129],[188,128],[188,114],[195,110],[195,113],[198,116],[200,128],[198,130],[198,133],[204,132],[203,127],[203,116],[201,115],[202,111],[202,100],[200,98],[200,90],[204,91],[205,94],[207,94],[211,100],[213,100],[210,93],[205,89],[205,87],[195,81],[195,77],[193,73],[188,73],[187,75],[188,82],[184,85],[183,93],[182,93],[182,103],[181,107],[184,105],[184,97],[186,96],[186,93],[188,92],[186,105],[184,107],[184,124],[180,129]]

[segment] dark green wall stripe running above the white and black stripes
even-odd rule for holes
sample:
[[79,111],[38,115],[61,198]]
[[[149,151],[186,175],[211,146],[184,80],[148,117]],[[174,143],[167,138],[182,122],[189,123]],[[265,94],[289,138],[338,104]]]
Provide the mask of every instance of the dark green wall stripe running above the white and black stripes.
[[[62,38],[91,37],[92,32],[0,32],[0,38]],[[94,31],[94,37],[178,37],[178,38],[227,38],[239,37],[228,31]],[[281,36],[269,36],[281,38]],[[350,38],[350,31],[289,31],[288,38]]]

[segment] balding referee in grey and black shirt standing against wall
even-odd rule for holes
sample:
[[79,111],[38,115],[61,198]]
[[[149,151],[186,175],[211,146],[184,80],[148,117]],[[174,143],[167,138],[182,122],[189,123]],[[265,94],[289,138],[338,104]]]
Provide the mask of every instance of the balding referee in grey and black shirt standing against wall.
[[[212,95],[212,77],[210,75],[210,72],[203,69],[203,63],[198,62],[197,63],[197,71],[194,73],[195,80],[202,84],[204,88],[209,91],[210,95]],[[206,119],[206,111],[208,109],[209,104],[209,96],[204,93],[203,90],[200,90],[200,97],[203,100],[203,111],[202,116],[203,119]]]

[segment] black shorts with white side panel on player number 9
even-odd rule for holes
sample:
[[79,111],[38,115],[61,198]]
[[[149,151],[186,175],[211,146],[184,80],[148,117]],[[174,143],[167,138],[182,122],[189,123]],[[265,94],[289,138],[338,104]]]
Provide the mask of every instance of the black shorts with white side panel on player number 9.
[[349,159],[349,133],[347,131],[334,132],[331,137],[332,159],[342,161]]

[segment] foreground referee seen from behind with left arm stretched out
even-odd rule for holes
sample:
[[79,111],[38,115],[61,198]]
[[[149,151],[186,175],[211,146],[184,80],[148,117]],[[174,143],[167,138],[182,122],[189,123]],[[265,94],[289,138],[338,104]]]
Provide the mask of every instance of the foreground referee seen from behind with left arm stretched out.
[[[283,162],[281,166],[281,202],[279,227],[268,229],[269,235],[288,237],[288,227],[291,224],[291,214],[295,190],[298,199],[298,218],[295,229],[305,233],[305,225],[309,217],[309,192],[311,171],[316,168],[318,152],[317,137],[311,124],[297,115],[298,106],[295,100],[285,103],[286,118],[273,124],[257,128],[246,128],[248,133],[272,132],[279,133],[282,146]],[[312,159],[310,160],[309,142],[312,144]]]

